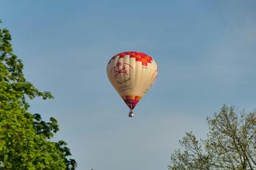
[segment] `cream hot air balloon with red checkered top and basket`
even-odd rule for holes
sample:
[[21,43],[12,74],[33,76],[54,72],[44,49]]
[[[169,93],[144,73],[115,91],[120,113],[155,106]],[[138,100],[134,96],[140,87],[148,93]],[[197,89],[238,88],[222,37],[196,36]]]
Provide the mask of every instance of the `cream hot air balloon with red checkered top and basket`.
[[110,58],[106,67],[107,76],[122,100],[133,109],[146,94],[158,76],[158,66],[146,53],[122,52]]

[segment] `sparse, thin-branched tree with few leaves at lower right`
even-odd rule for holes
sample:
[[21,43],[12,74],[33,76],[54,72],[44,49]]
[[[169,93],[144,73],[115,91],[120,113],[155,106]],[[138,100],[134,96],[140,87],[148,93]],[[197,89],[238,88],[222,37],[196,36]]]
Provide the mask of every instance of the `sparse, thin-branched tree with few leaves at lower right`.
[[171,155],[169,169],[256,169],[256,111],[239,116],[234,107],[222,107],[207,117],[206,140],[192,132],[180,140],[183,149]]

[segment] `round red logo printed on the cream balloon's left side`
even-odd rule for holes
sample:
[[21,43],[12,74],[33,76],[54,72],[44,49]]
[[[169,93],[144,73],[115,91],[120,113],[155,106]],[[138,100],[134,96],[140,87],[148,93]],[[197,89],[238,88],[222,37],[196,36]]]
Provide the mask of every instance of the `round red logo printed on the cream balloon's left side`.
[[131,65],[125,62],[117,62],[114,68],[111,69],[110,74],[119,84],[123,84],[130,81],[130,71],[134,71]]

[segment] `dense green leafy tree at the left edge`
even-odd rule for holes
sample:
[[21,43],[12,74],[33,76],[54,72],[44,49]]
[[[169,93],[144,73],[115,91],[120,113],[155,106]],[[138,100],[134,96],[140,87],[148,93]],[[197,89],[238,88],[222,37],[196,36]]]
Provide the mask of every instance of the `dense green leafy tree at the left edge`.
[[42,121],[28,112],[28,98],[53,96],[26,81],[10,41],[9,31],[0,27],[0,169],[75,169],[66,142],[50,140],[59,130],[57,120]]

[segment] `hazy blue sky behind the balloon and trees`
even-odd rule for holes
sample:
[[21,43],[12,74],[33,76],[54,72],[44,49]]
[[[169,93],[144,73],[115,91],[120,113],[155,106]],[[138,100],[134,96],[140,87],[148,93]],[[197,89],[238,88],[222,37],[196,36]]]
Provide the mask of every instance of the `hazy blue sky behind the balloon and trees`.
[[[222,107],[256,109],[256,2],[10,1],[2,26],[24,73],[54,100],[30,111],[56,117],[78,170],[167,169],[185,132],[206,136]],[[106,77],[115,53],[141,51],[158,79],[134,110]]]

